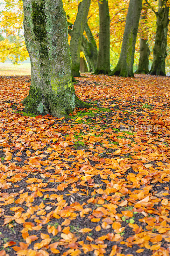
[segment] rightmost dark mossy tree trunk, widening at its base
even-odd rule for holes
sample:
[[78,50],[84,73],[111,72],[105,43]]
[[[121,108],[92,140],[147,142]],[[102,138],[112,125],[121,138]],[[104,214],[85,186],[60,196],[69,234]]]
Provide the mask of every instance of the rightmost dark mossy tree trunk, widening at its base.
[[166,0],[159,0],[159,9],[157,16],[157,29],[155,35],[155,44],[153,47],[153,62],[150,75],[166,76],[165,59],[166,59],[166,37],[168,31],[168,13],[169,7],[166,6]]

